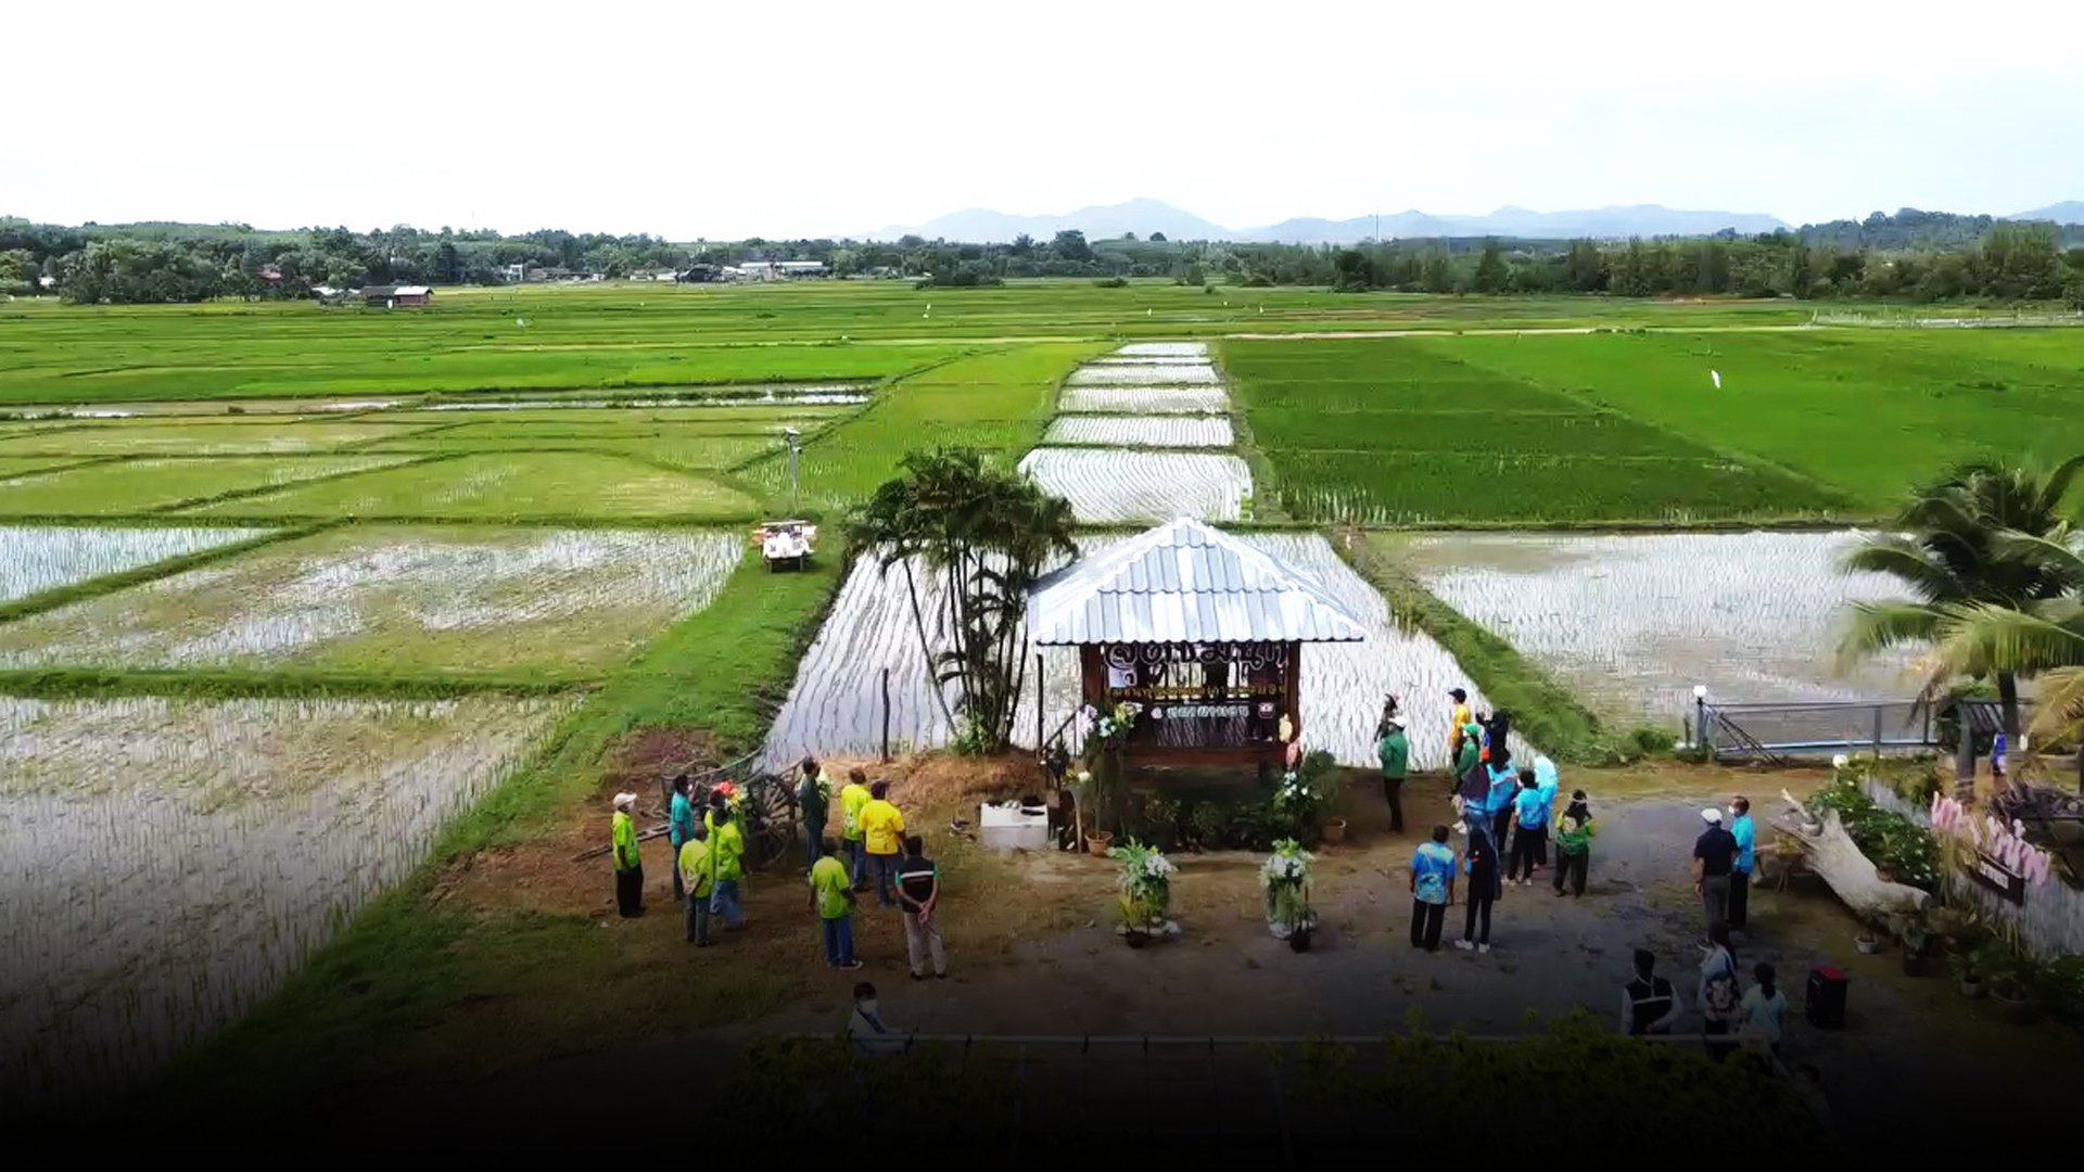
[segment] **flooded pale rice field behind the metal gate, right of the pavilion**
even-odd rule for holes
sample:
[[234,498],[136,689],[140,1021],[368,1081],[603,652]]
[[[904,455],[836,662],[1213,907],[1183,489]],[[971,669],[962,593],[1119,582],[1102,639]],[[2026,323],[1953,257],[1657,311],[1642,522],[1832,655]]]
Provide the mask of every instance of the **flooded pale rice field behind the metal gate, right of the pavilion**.
[[1400,542],[1428,590],[1555,672],[1594,709],[1676,726],[1694,684],[1728,703],[1905,699],[1915,655],[1840,674],[1855,601],[1903,596],[1846,576],[1836,534],[1442,534]]

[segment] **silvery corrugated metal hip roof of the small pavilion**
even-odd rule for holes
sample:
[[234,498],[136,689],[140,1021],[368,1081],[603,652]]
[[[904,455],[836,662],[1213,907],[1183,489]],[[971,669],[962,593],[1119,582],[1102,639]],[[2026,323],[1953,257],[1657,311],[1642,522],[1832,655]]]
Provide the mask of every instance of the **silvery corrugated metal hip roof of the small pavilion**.
[[1188,517],[1044,578],[1027,632],[1040,646],[1367,640],[1309,571]]

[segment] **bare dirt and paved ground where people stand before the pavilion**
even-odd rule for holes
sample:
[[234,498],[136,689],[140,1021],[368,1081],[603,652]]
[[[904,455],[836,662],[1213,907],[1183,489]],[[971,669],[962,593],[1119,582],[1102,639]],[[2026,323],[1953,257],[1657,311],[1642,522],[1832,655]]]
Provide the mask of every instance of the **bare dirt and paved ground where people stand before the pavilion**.
[[[1355,786],[1353,840],[1319,853],[1315,903],[1325,928],[1307,955],[1267,934],[1257,855],[1177,859],[1173,913],[1184,936],[1144,951],[1121,947],[1109,930],[1107,861],[1021,855],[1009,861],[1011,882],[950,893],[959,909],[971,907],[950,915],[946,982],[907,980],[890,911],[861,913],[869,961],[861,974],[821,970],[815,934],[807,924],[800,932],[792,926],[761,949],[800,953],[800,995],[790,1007],[742,1026],[665,1034],[656,1043],[536,1066],[479,1091],[488,1109],[498,1112],[517,1099],[571,1095],[611,1074],[625,1082],[671,1080],[690,1053],[729,1053],[752,1032],[829,1032],[844,1020],[857,976],[877,982],[890,1022],[929,1034],[1373,1036],[1407,1028],[1413,1011],[1434,1028],[1521,1034],[1576,1007],[1611,1022],[1630,953],[1648,947],[1692,1007],[1701,913],[1686,865],[1701,805],[1728,797],[1709,792],[1703,780],[1719,782],[1717,788],[1744,784],[1740,776],[1701,774],[1682,778],[1678,792],[1615,799],[1594,792],[1601,836],[1584,899],[1555,897],[1546,872],[1534,886],[1509,888],[1496,909],[1490,955],[1411,949],[1403,868],[1415,836],[1392,836],[1378,792]],[[1769,786],[1778,788],[1780,778]],[[1411,792],[1407,809],[1413,830],[1446,817],[1440,795]],[[994,913],[994,903],[996,911],[1004,903],[1048,905],[1057,915],[1029,918],[1013,930],[963,922],[965,913]],[[1457,905],[1448,934],[1459,930]],[[1853,930],[1828,893],[1761,890],[1753,897],[1753,932],[1738,947],[1746,984],[1755,961],[1778,968],[1790,1001],[1786,1057],[1821,1070],[1840,1126],[1901,1126],[1942,1086],[1963,1105],[1992,1097],[2013,1107],[2038,1086],[2055,1086],[2019,1074],[2065,1061],[2074,1034],[1986,1020],[1976,1003],[1959,999],[1951,980],[1907,980],[1892,955],[1857,955]],[[1813,963],[1838,963],[1851,974],[1849,1030],[1813,1030],[1801,1020],[1803,980]],[[1698,1018],[1688,1014],[1682,1030],[1696,1028]],[[444,1103],[444,1114],[452,1109]]]

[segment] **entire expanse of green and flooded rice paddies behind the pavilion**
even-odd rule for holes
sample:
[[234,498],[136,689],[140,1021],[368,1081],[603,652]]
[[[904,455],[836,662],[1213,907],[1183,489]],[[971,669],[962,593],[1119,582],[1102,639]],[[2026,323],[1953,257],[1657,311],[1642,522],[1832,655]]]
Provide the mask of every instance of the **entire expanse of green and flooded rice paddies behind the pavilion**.
[[[927,444],[1067,496],[1088,551],[1184,513],[1315,576],[1369,632],[1305,655],[1348,765],[1384,690],[1419,767],[1428,697],[1528,694],[1440,613],[1613,726],[1696,682],[1896,697],[1905,663],[1834,669],[1890,592],[1836,559],[1951,459],[2084,450],[2084,342],[1809,323],[1165,282],[0,302],[0,1116],[233,1070],[213,1034],[286,980],[265,1020],[413,1061],[400,1022],[475,993],[425,976],[429,853],[590,817],[623,734],[867,757],[888,669],[894,747],[946,744],[902,584],[842,536]],[[782,515],[823,526],[809,573],[752,553]],[[1069,655],[1044,684],[1055,726]],[[588,918],[508,926],[515,982],[611,963]],[[388,1009],[348,1028],[354,984]]]

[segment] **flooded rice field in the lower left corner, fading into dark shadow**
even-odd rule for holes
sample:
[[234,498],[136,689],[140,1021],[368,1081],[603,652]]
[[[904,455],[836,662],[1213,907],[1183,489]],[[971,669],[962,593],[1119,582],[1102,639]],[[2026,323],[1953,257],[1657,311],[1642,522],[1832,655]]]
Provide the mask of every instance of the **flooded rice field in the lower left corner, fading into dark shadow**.
[[567,709],[0,699],[0,1101],[121,1089],[233,1022]]

